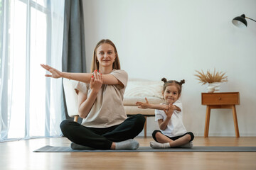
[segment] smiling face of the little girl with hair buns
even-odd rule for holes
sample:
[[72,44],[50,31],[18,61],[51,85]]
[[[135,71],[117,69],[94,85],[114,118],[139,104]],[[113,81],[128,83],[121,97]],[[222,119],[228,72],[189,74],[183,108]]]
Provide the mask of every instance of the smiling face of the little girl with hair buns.
[[180,95],[178,94],[178,88],[175,85],[166,86],[165,91],[163,92],[164,101],[166,103],[174,103],[178,100]]

